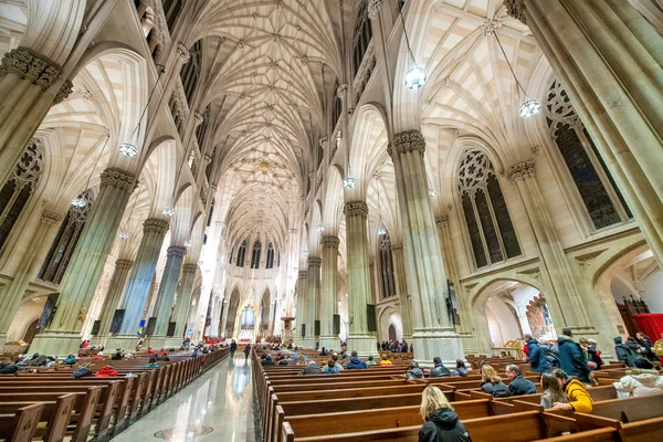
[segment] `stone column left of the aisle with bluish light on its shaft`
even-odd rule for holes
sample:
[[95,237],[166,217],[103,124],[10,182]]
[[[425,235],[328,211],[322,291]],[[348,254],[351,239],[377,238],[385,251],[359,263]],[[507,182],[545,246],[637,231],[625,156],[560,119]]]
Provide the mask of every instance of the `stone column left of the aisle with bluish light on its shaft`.
[[122,301],[120,308],[125,314],[119,335],[133,337],[138,332],[166,232],[168,232],[168,221],[149,218],[143,223],[143,239]]

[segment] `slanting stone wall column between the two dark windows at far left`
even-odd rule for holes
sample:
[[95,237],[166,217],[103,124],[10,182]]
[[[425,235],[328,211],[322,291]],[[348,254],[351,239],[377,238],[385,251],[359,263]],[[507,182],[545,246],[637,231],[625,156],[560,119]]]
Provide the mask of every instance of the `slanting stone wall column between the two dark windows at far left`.
[[41,223],[31,236],[28,252],[21,260],[19,271],[7,288],[7,293],[0,296],[0,345],[4,345],[7,341],[7,332],[21,305],[25,288],[43,264],[44,256],[51,248],[61,222],[60,213],[50,210],[42,212]]

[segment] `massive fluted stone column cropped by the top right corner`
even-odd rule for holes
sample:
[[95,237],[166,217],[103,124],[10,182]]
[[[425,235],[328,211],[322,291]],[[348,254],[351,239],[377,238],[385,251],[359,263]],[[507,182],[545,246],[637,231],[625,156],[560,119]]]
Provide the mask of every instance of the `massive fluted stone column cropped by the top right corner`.
[[663,50],[632,2],[507,0],[568,92],[663,267]]

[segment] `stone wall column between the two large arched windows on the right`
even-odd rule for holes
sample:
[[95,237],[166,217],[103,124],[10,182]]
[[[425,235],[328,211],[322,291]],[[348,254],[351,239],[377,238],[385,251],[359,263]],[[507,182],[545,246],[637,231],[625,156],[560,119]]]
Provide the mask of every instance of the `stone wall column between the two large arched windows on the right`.
[[[568,327],[577,335],[597,337],[601,348],[612,348],[613,329],[594,293],[581,293],[579,269],[573,269],[552,225],[550,213],[535,177],[533,160],[518,162],[507,169],[508,180],[518,188],[525,203],[529,224],[539,250],[541,276],[549,287],[544,293],[550,316],[558,333]],[[615,307],[617,308],[617,307]],[[591,315],[589,314],[591,312]]]

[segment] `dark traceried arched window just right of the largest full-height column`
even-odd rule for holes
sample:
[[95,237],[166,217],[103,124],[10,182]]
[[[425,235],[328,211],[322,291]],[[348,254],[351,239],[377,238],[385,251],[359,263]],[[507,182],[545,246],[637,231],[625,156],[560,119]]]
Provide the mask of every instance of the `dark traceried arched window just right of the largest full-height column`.
[[495,169],[480,149],[463,154],[459,170],[459,193],[477,267],[520,254]]

